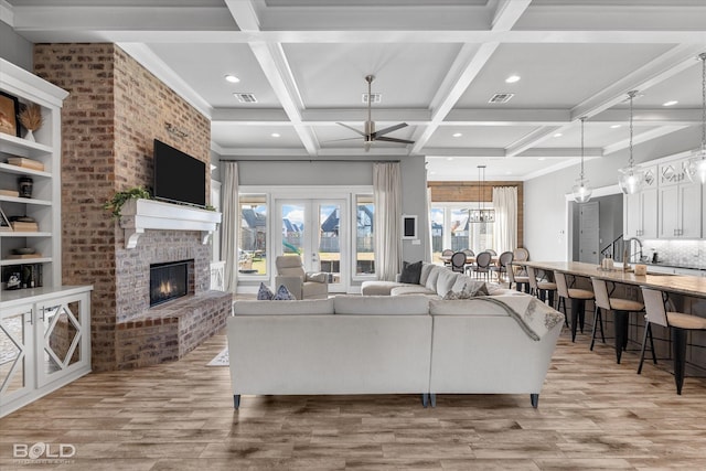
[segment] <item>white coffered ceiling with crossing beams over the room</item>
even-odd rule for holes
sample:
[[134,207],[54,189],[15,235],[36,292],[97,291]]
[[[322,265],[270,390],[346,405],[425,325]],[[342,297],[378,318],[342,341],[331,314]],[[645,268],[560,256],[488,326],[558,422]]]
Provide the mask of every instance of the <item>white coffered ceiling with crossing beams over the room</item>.
[[[635,142],[702,119],[706,0],[0,0],[0,19],[118,43],[212,119],[223,159],[422,154],[429,180],[523,180],[577,164],[580,117],[588,159],[623,150],[629,90]],[[368,74],[377,129],[414,144],[365,152],[338,124],[363,129]]]

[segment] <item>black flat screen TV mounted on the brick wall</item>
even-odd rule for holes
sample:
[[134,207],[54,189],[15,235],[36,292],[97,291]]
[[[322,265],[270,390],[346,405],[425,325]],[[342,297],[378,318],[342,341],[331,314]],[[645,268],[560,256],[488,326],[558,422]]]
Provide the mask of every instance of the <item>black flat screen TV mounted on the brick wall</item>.
[[154,139],[154,188],[157,200],[206,205],[206,164]]

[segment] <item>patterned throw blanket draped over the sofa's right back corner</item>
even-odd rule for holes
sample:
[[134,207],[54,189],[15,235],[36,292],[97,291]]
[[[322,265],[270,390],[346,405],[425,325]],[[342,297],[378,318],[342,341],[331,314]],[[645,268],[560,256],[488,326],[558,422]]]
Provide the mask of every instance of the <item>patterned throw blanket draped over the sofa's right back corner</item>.
[[503,308],[530,339],[539,341],[559,322],[564,314],[532,296],[482,296],[474,300],[492,302]]

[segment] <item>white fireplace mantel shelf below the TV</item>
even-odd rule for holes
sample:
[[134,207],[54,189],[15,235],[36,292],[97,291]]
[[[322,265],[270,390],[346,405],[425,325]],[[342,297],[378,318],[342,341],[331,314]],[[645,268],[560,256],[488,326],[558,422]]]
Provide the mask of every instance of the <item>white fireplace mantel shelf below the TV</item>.
[[202,244],[221,223],[221,213],[153,200],[128,200],[120,208],[125,248],[137,247],[146,229],[201,231]]

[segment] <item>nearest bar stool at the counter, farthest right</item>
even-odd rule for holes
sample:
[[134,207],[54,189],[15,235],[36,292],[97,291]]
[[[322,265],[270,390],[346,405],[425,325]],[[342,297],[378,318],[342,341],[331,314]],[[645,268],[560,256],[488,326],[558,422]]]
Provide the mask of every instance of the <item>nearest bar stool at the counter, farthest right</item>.
[[[644,362],[644,347],[648,335],[652,342],[652,324],[670,328],[672,333],[672,356],[674,357],[674,382],[676,383],[676,394],[682,394],[684,385],[684,371],[686,366],[686,333],[692,330],[706,330],[706,319],[698,315],[684,314],[682,312],[667,312],[664,308],[662,291],[642,287],[642,298],[644,299],[646,325],[642,340],[642,351],[640,352],[640,366],[638,374],[642,373]],[[652,361],[656,364],[654,354],[654,342],[652,342]]]

